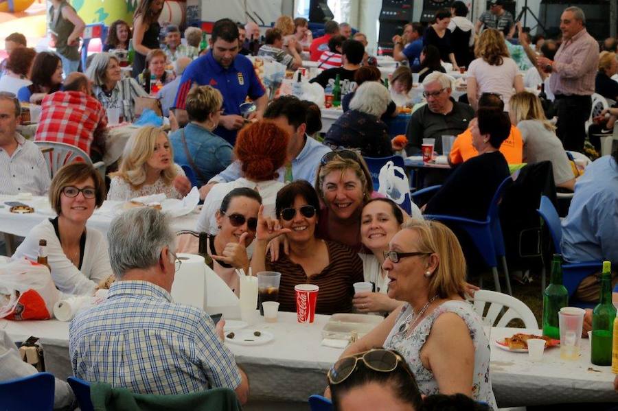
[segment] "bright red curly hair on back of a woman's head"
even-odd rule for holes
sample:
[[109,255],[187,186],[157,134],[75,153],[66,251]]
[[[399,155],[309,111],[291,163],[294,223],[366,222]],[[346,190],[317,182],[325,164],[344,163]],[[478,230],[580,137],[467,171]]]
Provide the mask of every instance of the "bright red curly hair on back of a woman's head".
[[234,154],[245,177],[255,181],[273,180],[288,154],[289,134],[273,121],[261,120],[238,133]]

